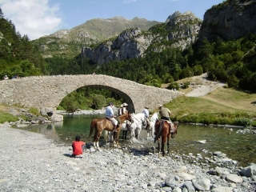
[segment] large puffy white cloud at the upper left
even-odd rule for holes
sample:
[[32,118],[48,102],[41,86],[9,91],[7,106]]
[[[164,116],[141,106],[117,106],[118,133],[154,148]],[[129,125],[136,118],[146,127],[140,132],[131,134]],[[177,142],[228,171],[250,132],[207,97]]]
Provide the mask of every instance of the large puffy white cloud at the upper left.
[[4,17],[30,40],[54,33],[62,22],[58,5],[50,7],[48,0],[0,0],[0,4]]

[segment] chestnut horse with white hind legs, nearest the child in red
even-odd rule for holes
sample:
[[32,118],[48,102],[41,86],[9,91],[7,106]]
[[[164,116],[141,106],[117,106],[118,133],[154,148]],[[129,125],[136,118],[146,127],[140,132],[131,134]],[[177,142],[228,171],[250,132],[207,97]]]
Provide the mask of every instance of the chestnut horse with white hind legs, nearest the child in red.
[[[132,121],[131,115],[129,113],[122,114],[122,115],[118,116],[118,118],[120,119],[120,124],[118,124],[118,128],[117,128],[118,133],[116,134],[117,145],[118,145],[118,137],[119,137],[122,122],[124,122],[125,120]],[[88,136],[88,137],[90,137],[91,134],[93,133],[93,131],[95,130],[94,148],[99,149],[98,140],[102,135],[102,131],[103,130],[113,131],[113,129],[114,129],[114,126],[110,120],[108,120],[106,118],[94,118],[93,121],[90,122],[90,134]],[[114,143],[113,143],[113,145],[114,145]]]

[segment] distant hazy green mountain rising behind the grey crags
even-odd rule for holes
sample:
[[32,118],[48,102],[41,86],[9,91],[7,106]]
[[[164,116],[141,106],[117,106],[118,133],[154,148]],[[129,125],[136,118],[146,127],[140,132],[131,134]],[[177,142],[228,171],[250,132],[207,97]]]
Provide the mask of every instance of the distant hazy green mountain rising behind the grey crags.
[[83,46],[113,38],[128,28],[139,27],[141,30],[149,30],[158,23],[147,21],[145,18],[94,18],[71,30],[58,30],[33,42],[39,45],[44,58],[51,58],[54,55],[73,58],[81,53]]

